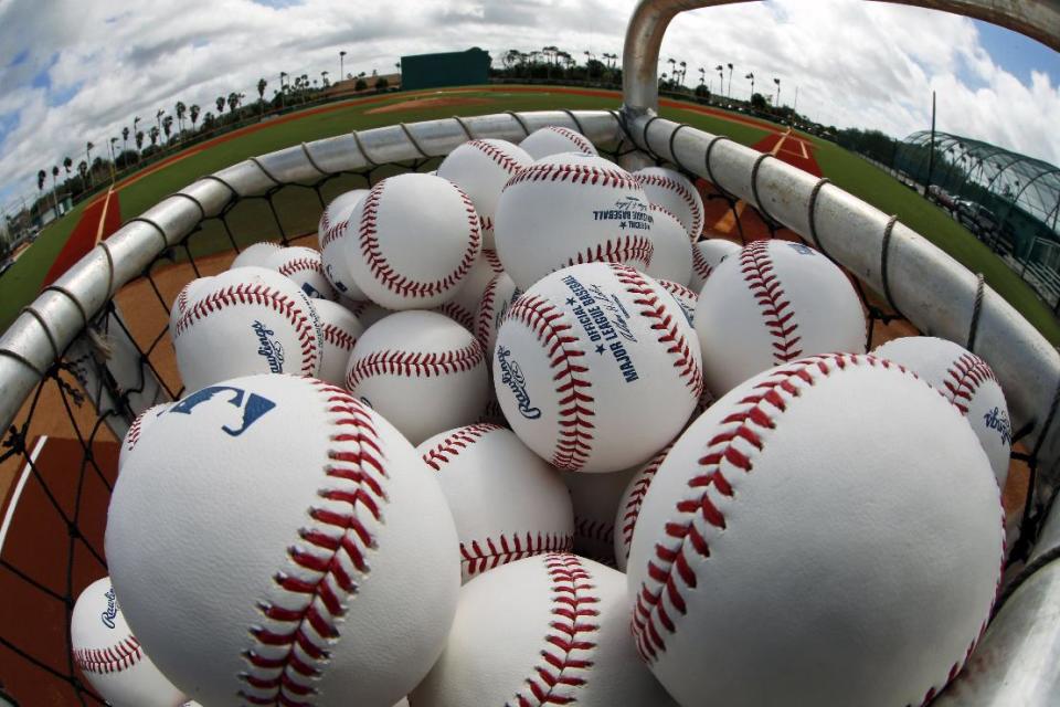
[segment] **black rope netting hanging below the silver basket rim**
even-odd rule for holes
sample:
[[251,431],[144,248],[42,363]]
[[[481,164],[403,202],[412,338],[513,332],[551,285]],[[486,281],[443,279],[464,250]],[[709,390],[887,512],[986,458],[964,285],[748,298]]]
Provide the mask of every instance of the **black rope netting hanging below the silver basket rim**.
[[[568,115],[581,127],[573,113]],[[611,149],[601,149],[601,155],[615,161],[633,152],[644,156],[621,116],[615,116],[624,135]],[[515,117],[529,134],[522,119]],[[412,134],[407,129],[405,133],[415,145]],[[717,137],[708,148],[708,170],[710,150],[725,139]],[[74,665],[71,614],[80,592],[107,572],[103,538],[120,442],[109,425],[124,430],[149,404],[177,400],[183,393],[168,327],[170,307],[180,288],[194,277],[223,272],[252,243],[316,247],[320,213],[335,197],[370,188],[393,173],[428,171],[441,162],[439,157],[427,155],[418,146],[416,149],[421,157],[404,162],[370,162],[365,169],[330,173],[311,183],[276,181],[262,196],[241,198],[230,187],[231,198],[220,214],[202,218],[187,236],[121,288],[81,338],[65,351],[56,351],[54,363],[4,432],[0,452],[0,479],[12,478],[0,529],[0,595],[4,598],[0,602],[0,704],[3,699],[13,705],[104,704]],[[767,157],[763,155],[762,159]],[[654,155],[645,158],[646,163],[664,162]],[[836,262],[820,247],[815,233],[803,239],[755,204],[741,202],[685,166],[667,166],[678,168],[700,187],[704,204],[721,204],[719,210],[731,212],[734,228],[727,234],[731,240],[741,244],[761,239],[797,241]],[[818,189],[824,183],[826,180]],[[199,208],[205,214],[201,204]],[[884,238],[884,268],[887,244]],[[897,336],[919,334],[893,306],[889,292],[876,295],[856,277],[850,279],[867,313],[870,349]],[[961,342],[972,350],[976,320],[973,316],[968,339]],[[108,342],[114,339],[135,346],[138,373],[132,378],[139,384],[123,387],[108,369]],[[106,404],[96,409],[94,403],[100,401]],[[1047,428],[1056,408],[1054,402]],[[1040,508],[1048,507],[1034,497],[1039,450],[1019,444],[1030,432],[1027,425],[1014,433],[1009,478],[1015,481],[1009,486],[1017,487],[1015,495],[1024,511],[1016,516],[1021,525],[1018,541],[1010,546],[1010,563],[1026,559],[1043,516]]]

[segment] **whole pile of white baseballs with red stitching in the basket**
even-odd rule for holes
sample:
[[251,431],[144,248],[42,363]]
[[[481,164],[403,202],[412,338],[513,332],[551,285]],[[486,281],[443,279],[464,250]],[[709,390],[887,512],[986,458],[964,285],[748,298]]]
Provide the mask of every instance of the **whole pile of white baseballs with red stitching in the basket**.
[[999,582],[1001,388],[867,354],[828,257],[709,225],[550,127],[189,283],[82,672],[138,706],[932,699]]

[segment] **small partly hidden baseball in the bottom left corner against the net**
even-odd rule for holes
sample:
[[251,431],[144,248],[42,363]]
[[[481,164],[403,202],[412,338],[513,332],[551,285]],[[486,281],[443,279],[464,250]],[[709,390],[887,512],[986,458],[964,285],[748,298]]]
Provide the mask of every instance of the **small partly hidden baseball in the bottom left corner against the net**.
[[74,665],[114,707],[179,707],[188,698],[158,672],[129,631],[110,579],[81,593],[70,618]]

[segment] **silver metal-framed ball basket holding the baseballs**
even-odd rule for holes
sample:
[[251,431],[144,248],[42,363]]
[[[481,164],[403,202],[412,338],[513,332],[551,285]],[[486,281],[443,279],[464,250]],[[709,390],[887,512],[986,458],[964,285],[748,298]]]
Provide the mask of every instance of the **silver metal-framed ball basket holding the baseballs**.
[[[233,233],[231,224],[241,205],[263,202],[287,243],[295,229],[282,211],[285,194],[292,191],[315,192],[322,209],[328,186],[340,180],[371,182],[395,170],[431,169],[436,158],[468,139],[518,141],[537,128],[562,125],[583,133],[603,154],[627,167],[669,163],[708,180],[721,198],[730,203],[736,199],[746,202],[771,228],[789,229],[847,268],[862,292],[873,293],[877,302],[889,306],[887,314],[871,306],[875,320],[904,317],[922,333],[974,350],[993,367],[1008,400],[1015,436],[1027,450],[1024,457],[1031,469],[1030,488],[1018,541],[1009,548],[1011,569],[996,614],[964,672],[934,704],[1045,707],[1060,703],[1060,562],[1056,561],[1060,510],[1052,503],[1060,481],[1056,421],[1060,355],[985,285],[982,276],[897,219],[827,179],[656,114],[656,67],[668,23],[685,10],[717,4],[725,2],[639,2],[626,33],[625,105],[621,109],[454,117],[351,133],[251,158],[167,197],[71,267],[0,338],[0,422],[8,431],[0,458],[22,457],[36,473],[28,440],[45,386],[57,387],[72,423],[76,415],[71,400],[84,397],[95,409],[92,420],[73,425],[84,451],[82,476],[99,473],[103,466],[91,450],[104,426],[120,439],[141,410],[180,394],[179,381],[167,380],[155,365],[156,354],[168,346],[166,321],[172,304],[156,286],[155,274],[179,253],[198,275],[193,250],[204,229],[223,233],[237,250],[241,236]],[[986,19],[1060,46],[1060,8],[1053,2],[916,0],[905,4]],[[318,214],[312,214],[314,226]],[[246,242],[245,236],[243,240]],[[145,282],[158,299],[157,327],[150,333],[130,330],[114,302],[123,287],[136,283],[142,287]],[[74,389],[71,377],[83,392]],[[38,482],[45,489],[52,483]],[[92,535],[82,527],[76,511],[61,515],[71,547]],[[63,616],[66,624],[47,630],[68,634],[72,599],[70,591],[64,595],[44,587],[33,570],[10,556],[8,551],[0,555],[0,572],[8,573],[10,581],[24,582],[28,592],[47,594],[59,609],[46,616],[30,616],[28,608],[14,605],[0,614],[0,646],[4,648],[0,654],[0,704],[3,685],[14,682],[20,665],[65,683],[81,704],[100,704],[78,682],[68,650],[66,656],[39,655],[17,637],[18,623],[54,623]],[[102,545],[91,547],[88,556],[105,567]],[[55,571],[63,562],[74,563],[59,556],[45,562],[55,564]],[[66,569],[68,590],[73,570]]]

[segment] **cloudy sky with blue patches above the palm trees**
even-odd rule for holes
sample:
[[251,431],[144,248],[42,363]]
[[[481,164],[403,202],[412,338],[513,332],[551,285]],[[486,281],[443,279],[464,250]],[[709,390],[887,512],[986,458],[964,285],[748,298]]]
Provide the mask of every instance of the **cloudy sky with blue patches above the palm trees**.
[[[478,45],[499,63],[510,48],[556,44],[621,54],[634,0],[0,0],[0,210],[35,191],[39,169],[76,165],[86,140],[106,149],[134,116],[180,99],[256,96],[280,71],[393,70],[402,54]],[[178,10],[179,8],[179,10]],[[940,129],[1060,163],[1060,57],[989,24],[856,0],[773,0],[704,9],[670,27],[662,60],[732,62],[757,87],[782,80],[781,102],[837,126],[905,136]],[[669,67],[662,64],[660,71]],[[709,75],[714,75],[710,72]],[[717,78],[716,78],[717,88]],[[142,127],[141,123],[141,127]]]

